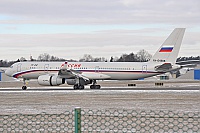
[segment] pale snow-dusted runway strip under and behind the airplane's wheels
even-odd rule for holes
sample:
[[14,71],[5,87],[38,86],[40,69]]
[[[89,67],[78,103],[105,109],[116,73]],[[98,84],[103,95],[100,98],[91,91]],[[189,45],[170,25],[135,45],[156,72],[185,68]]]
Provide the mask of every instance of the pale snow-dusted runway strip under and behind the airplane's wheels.
[[[156,83],[163,83],[162,86]],[[198,80],[120,80],[120,81],[98,81],[101,85],[101,90],[198,90],[200,88],[200,81]],[[135,86],[128,86],[128,85]],[[0,91],[10,91],[21,89],[22,81],[8,81],[0,82]],[[71,90],[73,86],[63,84],[60,86],[40,86],[37,81],[30,81],[27,83],[28,90]],[[89,89],[89,86],[85,86]]]

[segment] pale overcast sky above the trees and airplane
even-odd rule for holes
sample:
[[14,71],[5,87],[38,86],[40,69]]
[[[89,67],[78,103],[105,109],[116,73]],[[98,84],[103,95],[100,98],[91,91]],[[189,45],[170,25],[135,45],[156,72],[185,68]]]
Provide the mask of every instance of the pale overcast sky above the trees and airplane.
[[0,0],[0,60],[154,54],[174,28],[179,56],[199,56],[200,0]]

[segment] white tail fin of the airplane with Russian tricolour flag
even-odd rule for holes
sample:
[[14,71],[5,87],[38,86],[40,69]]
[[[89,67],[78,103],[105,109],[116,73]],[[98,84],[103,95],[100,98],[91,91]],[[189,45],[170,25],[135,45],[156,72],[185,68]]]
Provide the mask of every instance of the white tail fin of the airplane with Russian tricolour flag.
[[176,28],[153,55],[150,62],[175,64],[185,28]]

